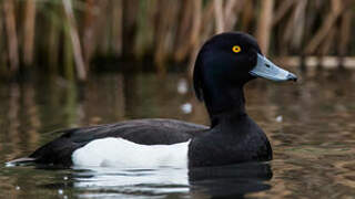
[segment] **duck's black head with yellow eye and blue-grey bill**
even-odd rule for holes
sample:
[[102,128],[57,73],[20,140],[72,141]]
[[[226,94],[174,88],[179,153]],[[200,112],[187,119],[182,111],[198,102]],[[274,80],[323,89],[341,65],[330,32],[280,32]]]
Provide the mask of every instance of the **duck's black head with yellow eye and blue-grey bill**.
[[294,74],[268,61],[253,36],[226,32],[203,44],[193,81],[197,98],[205,101],[211,113],[231,106],[239,98],[243,103],[243,85],[257,76],[274,81],[296,80]]

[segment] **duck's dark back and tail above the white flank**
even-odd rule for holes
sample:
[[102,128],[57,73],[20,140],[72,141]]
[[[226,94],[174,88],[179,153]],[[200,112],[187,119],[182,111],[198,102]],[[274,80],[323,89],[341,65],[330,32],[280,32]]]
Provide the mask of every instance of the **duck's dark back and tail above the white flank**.
[[62,136],[37,149],[30,158],[38,164],[68,167],[72,165],[72,153],[95,139],[120,137],[142,145],[171,145],[186,142],[206,129],[207,126],[175,119],[135,119],[71,128],[61,130]]

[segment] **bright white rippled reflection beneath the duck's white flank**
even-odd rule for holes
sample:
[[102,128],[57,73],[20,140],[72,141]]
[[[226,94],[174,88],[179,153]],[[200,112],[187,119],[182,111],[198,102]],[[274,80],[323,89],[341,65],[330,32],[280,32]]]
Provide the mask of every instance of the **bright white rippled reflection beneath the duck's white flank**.
[[118,169],[97,167],[75,168],[74,188],[90,190],[112,190],[122,193],[173,193],[189,192],[187,169]]

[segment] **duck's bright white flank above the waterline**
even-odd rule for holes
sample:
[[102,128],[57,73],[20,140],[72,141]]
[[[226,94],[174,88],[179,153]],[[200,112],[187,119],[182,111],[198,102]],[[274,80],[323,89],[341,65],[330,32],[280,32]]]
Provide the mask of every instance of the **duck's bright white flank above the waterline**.
[[97,139],[72,154],[74,166],[187,167],[189,142],[174,145],[140,145],[122,138]]

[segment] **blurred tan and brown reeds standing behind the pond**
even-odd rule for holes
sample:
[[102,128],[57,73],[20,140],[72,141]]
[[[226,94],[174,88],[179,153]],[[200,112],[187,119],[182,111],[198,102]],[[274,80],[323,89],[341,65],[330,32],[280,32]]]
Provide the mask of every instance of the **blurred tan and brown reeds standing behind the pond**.
[[[150,61],[164,73],[166,62],[193,63],[203,41],[232,30],[255,35],[274,57],[333,56],[343,65],[343,57],[355,54],[354,6],[354,0],[2,0],[0,75],[44,71],[84,81],[102,66],[93,61],[106,59]],[[352,61],[347,65],[355,65]]]

